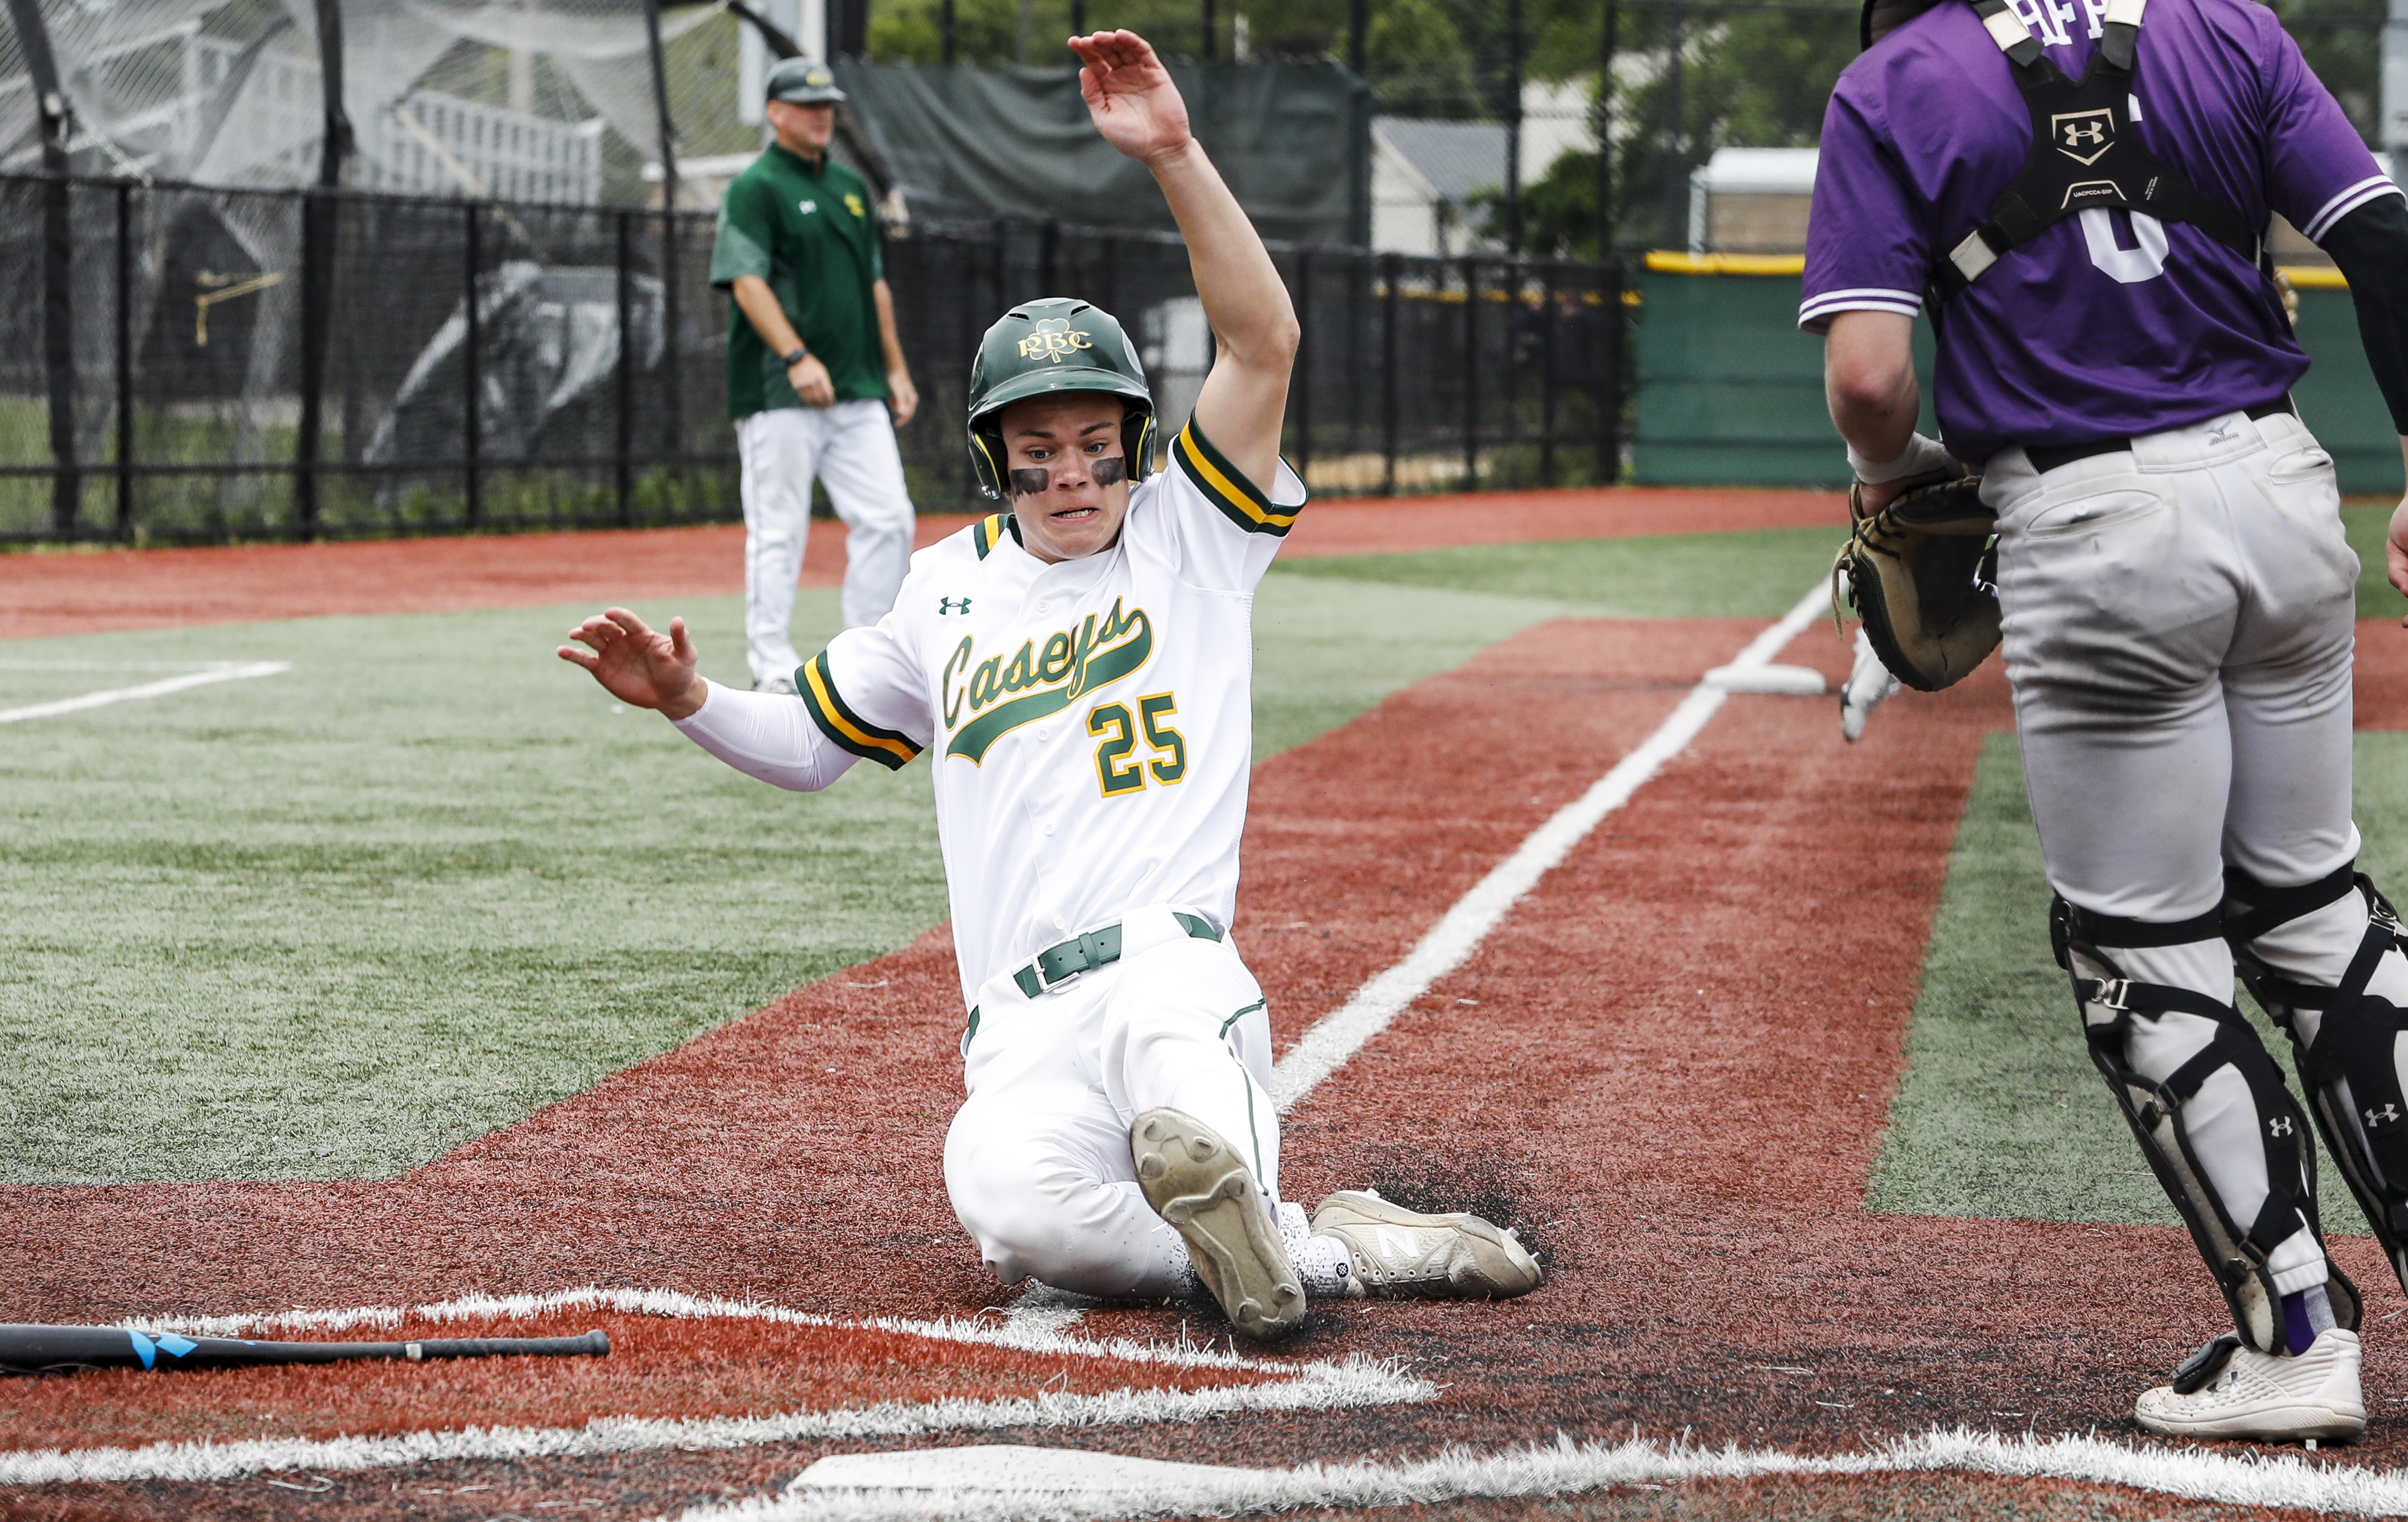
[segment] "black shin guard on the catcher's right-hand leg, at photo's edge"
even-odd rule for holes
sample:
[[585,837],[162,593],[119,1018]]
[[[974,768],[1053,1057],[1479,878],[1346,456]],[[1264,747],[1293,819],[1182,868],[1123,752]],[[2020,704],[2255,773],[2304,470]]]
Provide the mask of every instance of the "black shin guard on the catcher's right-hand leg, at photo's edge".
[[[2268,889],[2239,867],[2225,869],[2225,939],[2249,997],[2290,1036],[2300,1086],[2307,1091],[2326,1151],[2367,1214],[2391,1272],[2408,1288],[2408,1096],[2401,1093],[2396,1043],[2408,1011],[2367,992],[2367,980],[2391,951],[2408,951],[2398,913],[2357,862],[2331,877]],[[2266,932],[2357,893],[2367,930],[2338,987],[2283,978],[2254,944]],[[2314,1036],[2300,1011],[2316,1011]]]

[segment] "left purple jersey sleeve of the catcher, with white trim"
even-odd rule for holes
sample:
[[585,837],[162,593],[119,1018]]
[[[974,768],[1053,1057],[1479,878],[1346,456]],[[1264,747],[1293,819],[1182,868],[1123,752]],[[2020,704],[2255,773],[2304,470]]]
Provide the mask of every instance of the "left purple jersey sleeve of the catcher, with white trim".
[[1898,166],[1861,101],[1835,89],[1806,214],[1806,301],[1799,328],[1825,332],[1842,311],[1924,311],[1931,246]]

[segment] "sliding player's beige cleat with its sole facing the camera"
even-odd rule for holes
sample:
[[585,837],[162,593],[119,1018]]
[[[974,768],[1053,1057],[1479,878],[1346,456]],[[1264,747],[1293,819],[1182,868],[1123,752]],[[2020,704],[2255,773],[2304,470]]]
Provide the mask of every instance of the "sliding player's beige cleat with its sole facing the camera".
[[1305,1286],[1228,1142],[1194,1115],[1146,1110],[1129,1127],[1129,1161],[1146,1204],[1187,1240],[1197,1279],[1233,1327],[1271,1341],[1305,1320]]

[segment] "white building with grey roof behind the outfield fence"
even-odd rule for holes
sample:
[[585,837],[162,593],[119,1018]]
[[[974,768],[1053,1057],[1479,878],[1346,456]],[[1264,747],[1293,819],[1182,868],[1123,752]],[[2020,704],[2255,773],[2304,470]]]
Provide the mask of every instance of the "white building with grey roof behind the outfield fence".
[[[1522,183],[1568,152],[1597,147],[1589,79],[1522,87]],[[1370,123],[1370,246],[1382,253],[1498,253],[1471,197],[1505,185],[1500,123],[1375,116]]]

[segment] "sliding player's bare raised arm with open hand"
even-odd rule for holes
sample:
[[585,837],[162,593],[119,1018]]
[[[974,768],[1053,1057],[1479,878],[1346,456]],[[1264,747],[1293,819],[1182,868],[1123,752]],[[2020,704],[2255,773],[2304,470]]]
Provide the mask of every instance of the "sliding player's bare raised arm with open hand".
[[1218,349],[1197,395],[1197,429],[1257,486],[1279,474],[1279,421],[1296,366],[1296,308],[1245,207],[1187,130],[1187,101],[1134,31],[1069,39],[1096,130],[1153,171],[1187,238],[1204,320]]

